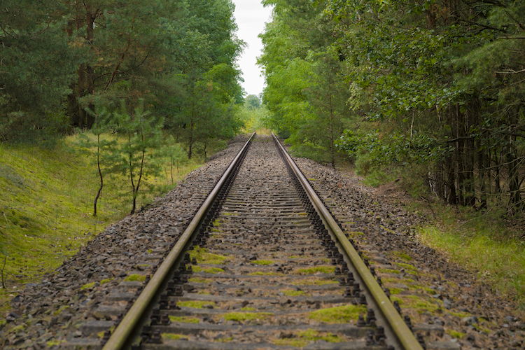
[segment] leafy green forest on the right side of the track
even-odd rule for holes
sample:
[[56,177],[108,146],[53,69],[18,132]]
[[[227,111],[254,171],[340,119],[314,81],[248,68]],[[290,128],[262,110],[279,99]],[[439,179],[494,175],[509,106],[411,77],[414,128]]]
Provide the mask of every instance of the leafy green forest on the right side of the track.
[[295,151],[522,212],[524,1],[264,2],[267,122]]

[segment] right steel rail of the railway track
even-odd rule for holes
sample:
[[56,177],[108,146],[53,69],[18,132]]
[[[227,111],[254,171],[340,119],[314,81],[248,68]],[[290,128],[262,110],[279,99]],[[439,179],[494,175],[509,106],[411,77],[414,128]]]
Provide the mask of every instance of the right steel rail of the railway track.
[[288,155],[288,152],[286,152],[286,149],[283,147],[273,132],[272,137],[274,137],[274,141],[276,141],[276,144],[281,149],[281,152],[286,158],[288,165],[290,165],[293,172],[297,176],[297,179],[299,179],[302,187],[304,188],[304,191],[307,193],[312,204],[314,204],[314,207],[321,217],[321,220],[323,223],[325,223],[326,229],[335,235],[339,241],[339,244],[346,252],[346,255],[348,255],[350,258],[354,269],[356,269],[356,272],[360,275],[361,280],[363,283],[365,283],[366,288],[368,289],[370,295],[372,295],[374,298],[374,301],[381,311],[381,314],[383,314],[384,318],[388,322],[388,326],[391,328],[393,334],[397,338],[398,344],[400,344],[402,349],[405,350],[423,350],[423,347],[417,341],[412,330],[408,328],[398,311],[393,307],[392,302],[384,293],[384,290],[381,288],[381,286],[379,286],[379,283],[377,283],[376,279],[372,275],[372,272],[370,272],[370,269],[368,269],[368,267],[365,265],[365,262],[363,262],[363,260],[360,258],[356,248],[354,248],[350,241],[346,238],[346,235],[344,235],[343,230],[332,217],[330,211],[328,211],[323,202],[321,202],[321,199],[310,186],[299,167],[297,167],[293,159],[290,157],[290,155]]

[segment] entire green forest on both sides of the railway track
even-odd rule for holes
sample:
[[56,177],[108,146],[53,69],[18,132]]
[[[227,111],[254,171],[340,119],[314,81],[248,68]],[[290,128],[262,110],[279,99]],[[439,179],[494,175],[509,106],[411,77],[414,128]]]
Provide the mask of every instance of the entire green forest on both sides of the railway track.
[[206,155],[257,114],[297,155],[525,209],[524,1],[262,2],[266,87],[246,108],[231,0],[3,1],[0,141],[90,130],[99,173],[134,179],[154,150]]

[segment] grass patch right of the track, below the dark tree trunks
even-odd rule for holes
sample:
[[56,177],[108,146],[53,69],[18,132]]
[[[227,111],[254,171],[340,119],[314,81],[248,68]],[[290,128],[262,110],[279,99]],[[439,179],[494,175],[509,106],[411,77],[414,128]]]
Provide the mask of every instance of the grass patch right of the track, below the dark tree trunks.
[[[495,214],[468,209],[434,210],[438,225],[419,229],[419,239],[450,260],[477,271],[493,290],[525,309],[525,241]],[[522,234],[519,233],[520,235]]]

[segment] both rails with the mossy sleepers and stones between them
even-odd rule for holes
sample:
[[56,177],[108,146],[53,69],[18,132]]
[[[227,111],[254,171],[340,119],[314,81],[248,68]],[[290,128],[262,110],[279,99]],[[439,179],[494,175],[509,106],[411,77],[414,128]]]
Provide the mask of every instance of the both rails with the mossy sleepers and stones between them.
[[103,349],[422,349],[276,137],[254,138]]

